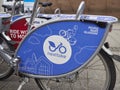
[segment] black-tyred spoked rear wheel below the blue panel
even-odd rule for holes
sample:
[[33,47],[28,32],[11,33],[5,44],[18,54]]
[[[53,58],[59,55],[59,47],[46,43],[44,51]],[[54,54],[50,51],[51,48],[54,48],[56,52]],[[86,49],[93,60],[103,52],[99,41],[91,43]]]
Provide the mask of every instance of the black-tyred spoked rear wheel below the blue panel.
[[[96,61],[98,56],[100,59]],[[94,60],[96,62],[93,62]],[[36,78],[35,81],[38,87],[40,88],[40,90],[114,90],[114,86],[116,82],[116,70],[112,58],[104,50],[100,50],[99,54],[91,62],[86,67],[84,67],[82,71],[80,71],[81,76],[83,73],[83,78],[80,76],[78,77],[77,74],[79,74],[79,72],[76,72],[76,74],[73,74],[71,76],[66,76],[61,78],[51,78],[51,79]],[[103,65],[100,66],[101,63],[99,62],[102,62]],[[94,66],[93,64],[96,65]],[[103,66],[105,67],[105,71],[102,68]],[[96,69],[94,69],[94,67]],[[98,73],[97,71],[95,72],[95,70],[97,69],[98,72],[100,72],[101,70],[103,70],[103,72],[102,73],[101,72]],[[87,72],[84,72],[84,70],[86,70]],[[87,76],[87,78],[85,78],[86,74],[92,76]],[[104,76],[103,74],[105,74],[105,79],[103,77]],[[89,81],[85,81],[83,79],[88,79]],[[94,81],[92,82],[91,79],[95,80],[95,82]],[[80,82],[77,83],[77,80],[80,80]],[[102,80],[105,83],[103,83]],[[69,85],[67,83],[69,83]],[[75,85],[73,83],[75,83]],[[73,86],[75,86],[75,88],[73,88]]]

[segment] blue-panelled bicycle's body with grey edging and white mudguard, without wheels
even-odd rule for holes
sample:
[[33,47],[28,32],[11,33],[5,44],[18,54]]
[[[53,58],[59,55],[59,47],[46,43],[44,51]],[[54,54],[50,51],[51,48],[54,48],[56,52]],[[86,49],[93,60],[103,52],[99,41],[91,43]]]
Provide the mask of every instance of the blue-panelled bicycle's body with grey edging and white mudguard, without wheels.
[[[33,23],[34,13],[32,16],[29,25]],[[104,44],[111,24],[117,21],[115,17],[97,15],[78,15],[76,19],[44,23],[27,34],[14,58],[4,50],[0,50],[0,54],[11,66],[19,66],[18,72],[26,77],[58,78],[70,75],[95,57]],[[67,34],[60,34],[61,30]]]

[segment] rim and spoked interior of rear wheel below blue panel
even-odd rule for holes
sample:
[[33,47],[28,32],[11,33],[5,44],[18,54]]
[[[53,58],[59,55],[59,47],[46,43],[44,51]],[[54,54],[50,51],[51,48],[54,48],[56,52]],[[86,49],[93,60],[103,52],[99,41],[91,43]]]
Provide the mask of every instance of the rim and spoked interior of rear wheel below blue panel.
[[39,79],[45,90],[107,90],[110,72],[101,55],[97,55],[85,68],[59,79]]

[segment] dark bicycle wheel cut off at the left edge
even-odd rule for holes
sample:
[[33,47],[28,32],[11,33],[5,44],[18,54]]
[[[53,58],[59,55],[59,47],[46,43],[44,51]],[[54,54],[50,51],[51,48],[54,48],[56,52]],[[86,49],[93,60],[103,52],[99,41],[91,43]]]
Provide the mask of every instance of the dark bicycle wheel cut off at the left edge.
[[[5,48],[10,50],[9,45],[6,43],[2,37],[0,37],[0,45],[5,45]],[[3,46],[4,47],[4,46]],[[14,72],[14,69],[10,67],[5,61],[4,57],[0,55],[0,80],[5,80],[9,78]]]

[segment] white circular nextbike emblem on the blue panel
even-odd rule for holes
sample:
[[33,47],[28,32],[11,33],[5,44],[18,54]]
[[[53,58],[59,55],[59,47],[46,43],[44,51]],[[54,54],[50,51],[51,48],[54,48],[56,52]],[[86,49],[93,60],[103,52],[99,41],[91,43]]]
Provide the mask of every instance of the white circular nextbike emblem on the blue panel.
[[70,43],[58,35],[50,36],[45,40],[43,51],[48,60],[55,64],[68,62],[72,54]]

